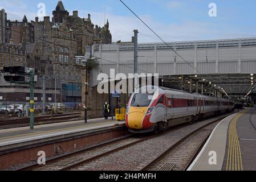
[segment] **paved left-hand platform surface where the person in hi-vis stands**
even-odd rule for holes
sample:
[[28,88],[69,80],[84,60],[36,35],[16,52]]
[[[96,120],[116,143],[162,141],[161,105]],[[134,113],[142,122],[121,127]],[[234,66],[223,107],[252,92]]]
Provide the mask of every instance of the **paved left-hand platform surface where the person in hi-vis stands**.
[[89,119],[87,123],[81,121],[54,123],[29,127],[0,130],[0,153],[11,148],[47,142],[64,137],[99,132],[113,127],[124,127],[125,122],[105,120],[104,118]]

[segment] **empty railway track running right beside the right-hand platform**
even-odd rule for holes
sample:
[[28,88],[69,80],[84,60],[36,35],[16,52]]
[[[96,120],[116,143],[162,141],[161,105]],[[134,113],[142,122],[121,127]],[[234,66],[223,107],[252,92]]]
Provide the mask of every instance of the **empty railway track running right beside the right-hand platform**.
[[141,171],[185,171],[220,121],[202,126],[181,138],[141,168]]

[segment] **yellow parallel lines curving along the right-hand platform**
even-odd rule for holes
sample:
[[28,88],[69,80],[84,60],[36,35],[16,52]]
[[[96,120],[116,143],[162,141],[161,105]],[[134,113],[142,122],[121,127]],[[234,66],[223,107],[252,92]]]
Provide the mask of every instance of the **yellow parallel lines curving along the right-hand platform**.
[[229,149],[227,154],[226,171],[243,171],[242,154],[237,135],[237,121],[238,119],[249,110],[234,117],[229,126]]

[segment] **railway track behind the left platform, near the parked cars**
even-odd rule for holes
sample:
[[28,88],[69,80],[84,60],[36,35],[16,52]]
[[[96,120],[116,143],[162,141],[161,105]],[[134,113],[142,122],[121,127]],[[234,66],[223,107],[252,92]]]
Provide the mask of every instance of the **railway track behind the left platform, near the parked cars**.
[[[68,114],[56,114],[51,117],[51,115],[42,116],[42,117],[35,117],[34,121],[36,123],[40,122],[49,122],[49,121],[62,121],[63,119],[74,119],[80,117],[80,113],[68,113]],[[29,118],[22,118],[22,119],[14,119],[14,120],[5,120],[0,121],[0,126],[6,125],[17,125],[17,124],[29,124]]]

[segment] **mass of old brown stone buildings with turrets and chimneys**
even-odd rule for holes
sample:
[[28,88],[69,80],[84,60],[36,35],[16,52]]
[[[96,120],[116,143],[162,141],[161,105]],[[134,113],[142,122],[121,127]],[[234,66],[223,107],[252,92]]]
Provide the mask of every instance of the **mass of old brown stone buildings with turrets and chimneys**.
[[[35,20],[31,22],[28,22],[25,15],[19,22],[18,20],[7,20],[5,10],[0,11],[0,16],[3,17],[0,23],[1,25],[5,24],[2,27],[7,27],[0,28],[0,43],[9,44],[11,42],[13,46],[23,45],[21,48],[24,52],[24,60],[17,61],[15,64],[26,64],[35,68],[36,75],[38,75],[38,82],[35,86],[37,99],[35,101],[42,101],[42,76],[45,75],[47,76],[46,102],[54,102],[55,85],[57,102],[82,102],[82,75],[75,56],[84,56],[86,47],[91,47],[96,42],[111,43],[109,23],[107,22],[104,27],[100,28],[91,22],[90,14],[86,15],[86,18],[81,18],[78,11],[73,11],[70,15],[62,1],[58,2],[52,15],[51,20],[50,16],[45,16],[42,21],[35,17]],[[12,63],[10,60],[15,59],[10,59],[9,55],[9,57],[1,59],[0,64],[10,65]],[[3,80],[1,86],[2,82]],[[29,89],[24,86],[21,89],[19,86],[21,85],[9,89],[8,92],[13,94],[10,98],[26,102]],[[0,89],[5,92],[6,87],[3,86]],[[0,90],[0,94],[1,92],[2,90]],[[6,93],[7,96],[9,95]]]

